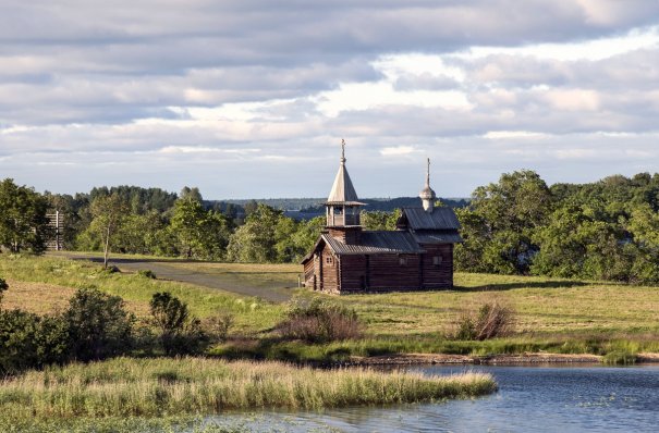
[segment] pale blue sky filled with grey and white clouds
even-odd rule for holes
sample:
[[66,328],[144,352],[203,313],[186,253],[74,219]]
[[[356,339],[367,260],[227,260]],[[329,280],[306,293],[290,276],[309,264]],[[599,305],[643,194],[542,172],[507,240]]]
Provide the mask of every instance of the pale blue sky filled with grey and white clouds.
[[0,178],[206,199],[659,171],[657,0],[0,0]]

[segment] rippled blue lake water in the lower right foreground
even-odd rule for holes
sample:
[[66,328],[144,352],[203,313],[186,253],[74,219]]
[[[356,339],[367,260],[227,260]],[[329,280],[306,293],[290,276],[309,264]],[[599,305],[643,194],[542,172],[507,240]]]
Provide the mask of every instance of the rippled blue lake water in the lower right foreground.
[[425,374],[492,373],[499,392],[474,400],[321,412],[264,411],[209,423],[267,432],[655,432],[659,367],[411,367]]

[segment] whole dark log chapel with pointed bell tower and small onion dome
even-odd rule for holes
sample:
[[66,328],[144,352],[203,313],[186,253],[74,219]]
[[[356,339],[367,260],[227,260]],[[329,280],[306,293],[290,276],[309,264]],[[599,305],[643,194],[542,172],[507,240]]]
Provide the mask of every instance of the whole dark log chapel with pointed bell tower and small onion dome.
[[325,203],[327,225],[302,261],[305,286],[332,294],[452,287],[460,223],[453,209],[435,207],[430,161],[422,207],[403,208],[395,231],[362,228],[364,203],[345,169],[344,148],[340,161]]

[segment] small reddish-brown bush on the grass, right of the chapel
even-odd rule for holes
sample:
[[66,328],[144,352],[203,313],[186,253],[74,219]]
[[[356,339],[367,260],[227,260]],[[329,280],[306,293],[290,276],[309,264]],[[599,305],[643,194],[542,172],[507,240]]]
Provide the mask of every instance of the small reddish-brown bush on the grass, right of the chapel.
[[484,341],[510,334],[514,311],[498,302],[485,304],[477,314],[462,316],[457,321],[455,339]]

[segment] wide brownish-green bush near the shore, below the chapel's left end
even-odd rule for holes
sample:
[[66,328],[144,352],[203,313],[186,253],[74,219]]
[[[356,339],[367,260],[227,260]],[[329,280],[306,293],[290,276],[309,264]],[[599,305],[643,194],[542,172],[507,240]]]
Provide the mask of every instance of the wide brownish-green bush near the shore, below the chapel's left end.
[[319,298],[308,304],[293,304],[286,320],[278,324],[277,330],[283,338],[309,343],[358,338],[363,334],[355,310]]

